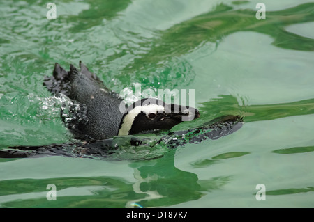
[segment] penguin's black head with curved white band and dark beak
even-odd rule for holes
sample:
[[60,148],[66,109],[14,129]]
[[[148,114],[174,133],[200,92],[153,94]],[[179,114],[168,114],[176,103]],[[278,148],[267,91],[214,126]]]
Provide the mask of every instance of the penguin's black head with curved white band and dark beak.
[[189,106],[167,104],[148,98],[139,100],[126,109],[122,117],[119,136],[141,134],[155,129],[171,129],[183,121],[200,117],[200,112]]

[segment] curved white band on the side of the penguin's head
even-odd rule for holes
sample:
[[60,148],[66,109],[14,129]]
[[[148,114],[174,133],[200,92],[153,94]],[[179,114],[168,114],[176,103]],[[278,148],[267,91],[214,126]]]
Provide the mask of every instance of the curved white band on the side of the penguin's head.
[[148,113],[158,113],[164,112],[165,107],[160,106],[158,104],[149,104],[147,106],[135,106],[126,116],[124,116],[124,122],[122,122],[121,128],[119,129],[118,136],[126,136],[133,125],[133,121],[135,117],[140,114],[141,112],[148,114]]

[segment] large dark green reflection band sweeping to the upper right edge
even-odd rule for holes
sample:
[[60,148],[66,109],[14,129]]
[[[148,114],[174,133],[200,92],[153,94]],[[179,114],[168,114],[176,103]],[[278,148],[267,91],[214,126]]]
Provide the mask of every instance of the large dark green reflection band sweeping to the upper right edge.
[[[255,31],[270,35],[274,38],[272,44],[276,47],[314,51],[313,39],[285,31],[285,26],[314,21],[314,3],[304,3],[285,10],[267,12],[266,20],[257,20],[255,13],[251,9],[234,10],[231,6],[220,3],[208,13],[160,31],[158,33],[160,38],[140,43],[140,46],[149,48],[149,51],[137,55],[139,57],[135,58],[132,68],[125,68],[121,75],[145,67],[144,70],[134,73],[138,79],[145,79],[144,72],[147,67],[155,66],[157,63],[160,66],[170,58],[176,58],[197,49],[204,45],[204,42],[219,44],[225,36],[238,31]],[[175,63],[172,64],[172,66],[175,65]],[[162,80],[169,81],[170,79]],[[163,82],[162,80],[159,81]]]

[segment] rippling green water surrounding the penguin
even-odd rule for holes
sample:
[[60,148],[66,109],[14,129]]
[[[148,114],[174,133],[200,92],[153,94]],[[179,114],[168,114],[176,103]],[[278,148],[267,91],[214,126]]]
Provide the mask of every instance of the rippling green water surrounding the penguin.
[[118,93],[195,89],[201,118],[176,129],[245,123],[149,161],[0,159],[1,207],[314,207],[313,1],[264,0],[264,20],[260,1],[53,2],[56,20],[46,1],[0,3],[0,148],[70,141],[43,86],[56,62]]

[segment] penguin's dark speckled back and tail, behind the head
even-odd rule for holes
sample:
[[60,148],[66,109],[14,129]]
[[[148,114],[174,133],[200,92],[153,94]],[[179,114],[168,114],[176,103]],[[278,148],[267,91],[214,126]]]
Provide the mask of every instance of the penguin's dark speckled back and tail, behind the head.
[[72,100],[63,104],[61,118],[75,138],[85,139],[82,135],[87,135],[103,139],[117,135],[123,116],[119,111],[122,100],[82,61],[80,70],[70,65],[68,72],[55,63],[52,77],[45,77],[43,84],[51,93],[61,93]]

